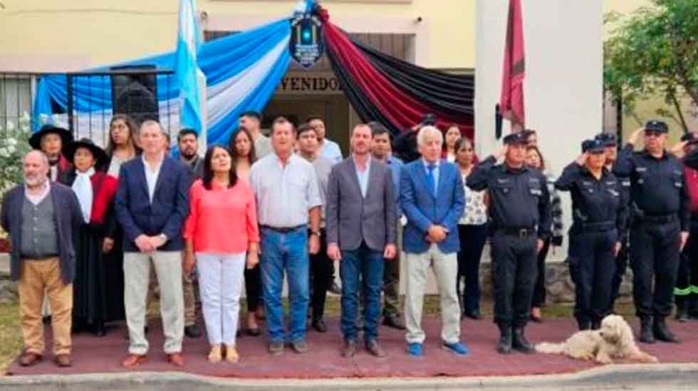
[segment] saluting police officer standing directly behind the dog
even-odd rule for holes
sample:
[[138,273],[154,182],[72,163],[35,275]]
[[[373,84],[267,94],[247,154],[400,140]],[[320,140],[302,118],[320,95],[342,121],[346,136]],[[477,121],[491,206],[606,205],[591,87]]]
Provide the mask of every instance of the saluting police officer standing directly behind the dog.
[[555,182],[572,195],[573,225],[568,261],[575,283],[574,314],[580,330],[598,330],[609,312],[619,238],[625,232],[627,199],[620,181],[605,168],[603,141],[585,140],[582,155]]

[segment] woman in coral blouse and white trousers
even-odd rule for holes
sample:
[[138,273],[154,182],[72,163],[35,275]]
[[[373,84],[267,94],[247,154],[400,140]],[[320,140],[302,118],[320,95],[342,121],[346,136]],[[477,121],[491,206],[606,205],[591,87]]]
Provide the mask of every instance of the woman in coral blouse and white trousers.
[[236,363],[240,292],[245,267],[259,262],[259,229],[254,193],[237,178],[228,149],[214,145],[204,157],[204,177],[189,191],[184,225],[184,272],[197,264],[209,361],[225,356]]

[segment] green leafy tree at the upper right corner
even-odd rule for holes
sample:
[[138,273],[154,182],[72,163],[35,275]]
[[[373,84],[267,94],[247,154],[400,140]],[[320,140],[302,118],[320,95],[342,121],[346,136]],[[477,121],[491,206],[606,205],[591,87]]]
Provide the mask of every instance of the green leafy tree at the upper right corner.
[[[604,42],[607,92],[633,114],[643,97],[662,96],[657,114],[687,129],[698,115],[698,0],[654,0],[627,16],[607,14],[615,26]],[[688,97],[691,105],[681,102]]]

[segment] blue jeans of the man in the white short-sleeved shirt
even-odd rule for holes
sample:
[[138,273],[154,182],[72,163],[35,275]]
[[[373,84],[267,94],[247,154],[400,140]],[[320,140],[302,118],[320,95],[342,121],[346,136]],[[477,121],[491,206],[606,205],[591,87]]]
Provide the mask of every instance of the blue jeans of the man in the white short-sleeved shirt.
[[[261,229],[261,279],[266,325],[271,342],[298,342],[306,339],[308,316],[308,230],[303,225],[290,232]],[[288,301],[291,332],[283,326],[281,290],[283,272],[288,274]]]

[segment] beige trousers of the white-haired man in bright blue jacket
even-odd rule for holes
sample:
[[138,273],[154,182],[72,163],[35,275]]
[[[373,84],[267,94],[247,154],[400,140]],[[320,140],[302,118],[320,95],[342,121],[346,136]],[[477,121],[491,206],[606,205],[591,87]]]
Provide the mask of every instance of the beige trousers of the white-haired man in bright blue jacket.
[[407,291],[405,292],[405,326],[407,343],[424,343],[422,330],[422,307],[424,290],[427,288],[427,272],[434,269],[441,299],[441,339],[445,343],[460,340],[461,311],[454,278],[458,274],[457,253],[444,254],[437,245],[431,245],[422,254],[406,253]]

